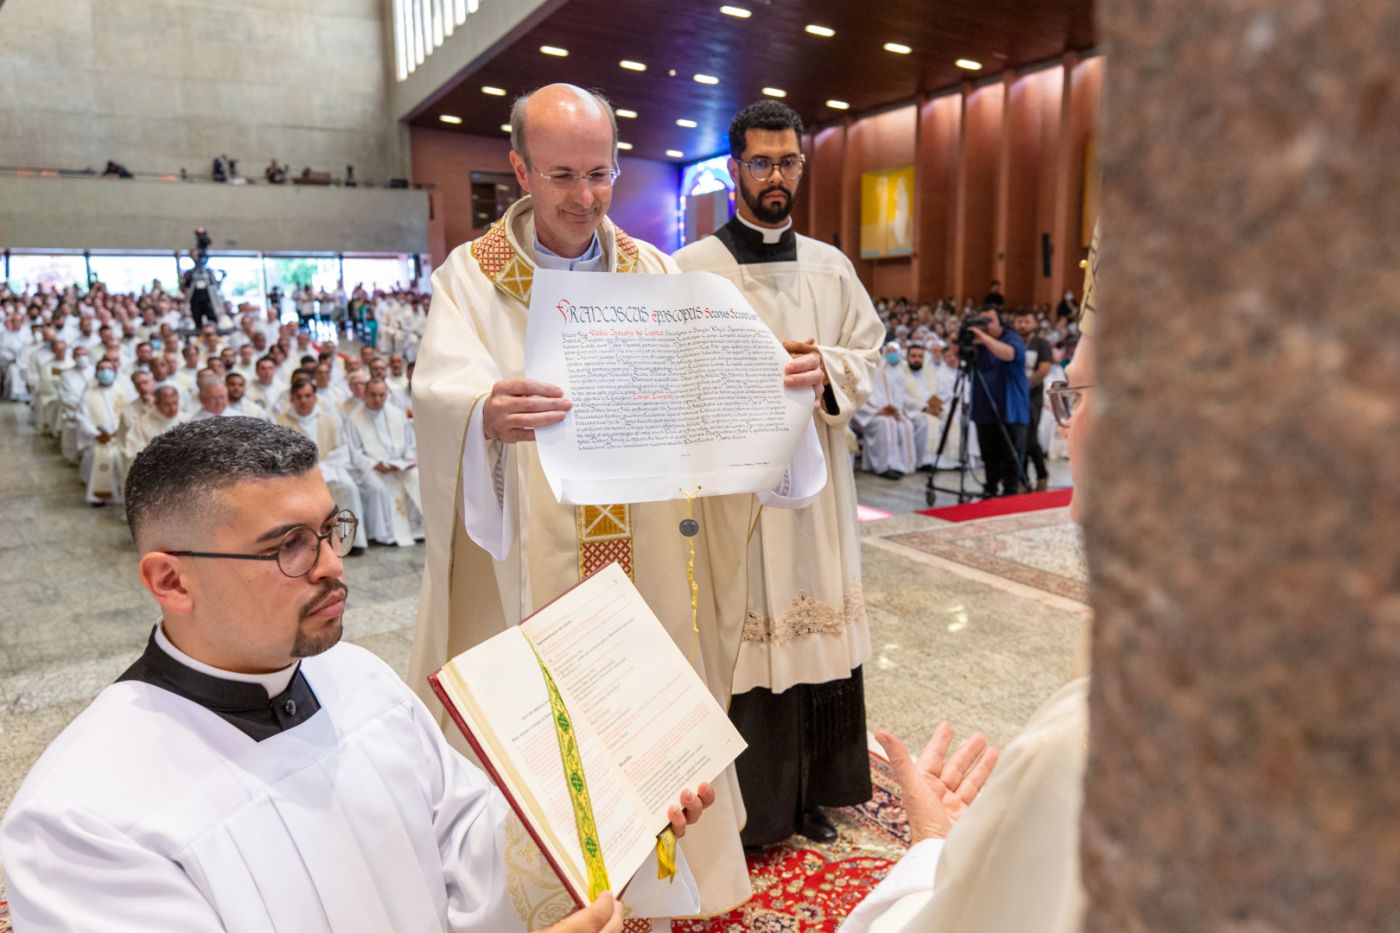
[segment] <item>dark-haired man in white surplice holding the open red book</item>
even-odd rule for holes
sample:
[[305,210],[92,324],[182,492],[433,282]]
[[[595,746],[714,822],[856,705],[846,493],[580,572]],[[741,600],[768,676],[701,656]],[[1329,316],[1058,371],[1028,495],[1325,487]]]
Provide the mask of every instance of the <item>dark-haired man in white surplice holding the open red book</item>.
[[[525,929],[504,797],[389,665],[339,644],[357,520],[316,459],[295,431],[211,417],[132,465],[137,574],[161,618],[6,813],[17,930]],[[713,800],[682,792],[676,835]],[[652,860],[629,899],[655,878]],[[693,894],[687,869],[673,881]],[[605,892],[549,930],[622,927]]]

